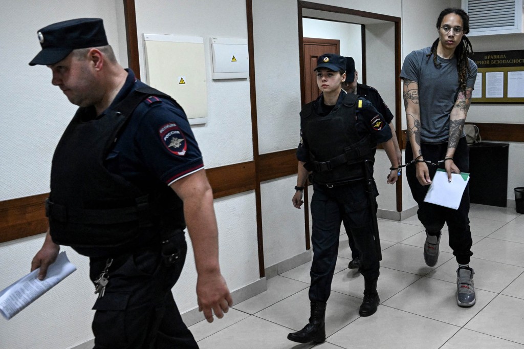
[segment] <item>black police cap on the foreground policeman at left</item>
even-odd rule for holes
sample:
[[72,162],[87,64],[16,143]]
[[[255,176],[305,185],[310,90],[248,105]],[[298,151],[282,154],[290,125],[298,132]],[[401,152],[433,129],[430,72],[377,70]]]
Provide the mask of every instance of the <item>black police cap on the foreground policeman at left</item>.
[[42,50],[29,66],[49,66],[73,50],[108,45],[101,18],[77,18],[51,24],[38,31],[38,40]]

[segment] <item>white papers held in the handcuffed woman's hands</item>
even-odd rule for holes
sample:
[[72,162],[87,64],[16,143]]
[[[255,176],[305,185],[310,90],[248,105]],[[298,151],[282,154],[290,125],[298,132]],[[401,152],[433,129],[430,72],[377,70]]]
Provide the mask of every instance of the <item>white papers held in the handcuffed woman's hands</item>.
[[448,182],[447,172],[439,168],[436,170],[424,201],[457,210],[469,181],[470,174],[461,172],[460,174],[452,173],[451,182]]

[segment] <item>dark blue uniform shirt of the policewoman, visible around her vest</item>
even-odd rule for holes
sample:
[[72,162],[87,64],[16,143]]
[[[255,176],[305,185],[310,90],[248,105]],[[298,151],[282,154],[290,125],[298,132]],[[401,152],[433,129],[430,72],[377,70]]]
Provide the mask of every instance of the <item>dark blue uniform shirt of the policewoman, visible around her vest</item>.
[[[340,92],[339,100],[337,100],[335,106],[342,103],[345,94],[345,91]],[[358,100],[362,101],[362,108],[357,107],[356,109],[356,129],[358,134],[363,137],[367,134],[370,134],[376,140],[376,143],[384,143],[391,139],[391,128],[389,128],[388,123],[384,120],[384,117],[380,115],[379,112],[377,112],[373,104],[371,104],[371,102],[368,100],[362,97],[359,97]],[[323,114],[323,108],[324,113],[328,112],[325,110],[326,106],[323,104],[322,95],[320,95],[314,103],[315,112],[319,115]],[[332,109],[330,106],[328,106],[328,108]],[[297,159],[302,162],[309,161],[308,140],[303,139],[302,130],[300,130],[300,144],[297,148]]]

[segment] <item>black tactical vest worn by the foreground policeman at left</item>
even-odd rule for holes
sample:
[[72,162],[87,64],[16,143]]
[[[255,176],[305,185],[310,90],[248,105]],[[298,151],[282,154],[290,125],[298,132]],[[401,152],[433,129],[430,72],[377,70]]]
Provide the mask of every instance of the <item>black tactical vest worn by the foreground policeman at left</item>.
[[46,215],[54,243],[90,257],[107,256],[185,228],[182,201],[165,183],[145,190],[104,166],[135,109],[147,107],[140,103],[151,95],[170,98],[144,85],[101,118],[83,121],[89,110],[78,109],[52,160]]

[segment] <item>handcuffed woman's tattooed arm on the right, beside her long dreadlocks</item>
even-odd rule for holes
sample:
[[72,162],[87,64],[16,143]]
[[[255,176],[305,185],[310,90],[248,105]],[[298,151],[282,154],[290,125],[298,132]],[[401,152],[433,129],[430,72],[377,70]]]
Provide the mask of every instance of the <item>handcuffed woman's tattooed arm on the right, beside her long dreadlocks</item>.
[[[446,158],[453,158],[459,139],[462,136],[464,123],[466,121],[467,111],[470,109],[471,94],[473,89],[466,88],[466,91],[459,92],[453,110],[450,114],[450,135],[447,141]],[[453,160],[445,161],[447,178],[451,181],[451,172],[460,173],[460,169],[455,165]]]

